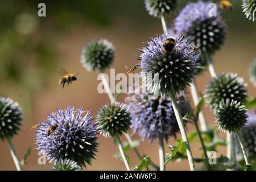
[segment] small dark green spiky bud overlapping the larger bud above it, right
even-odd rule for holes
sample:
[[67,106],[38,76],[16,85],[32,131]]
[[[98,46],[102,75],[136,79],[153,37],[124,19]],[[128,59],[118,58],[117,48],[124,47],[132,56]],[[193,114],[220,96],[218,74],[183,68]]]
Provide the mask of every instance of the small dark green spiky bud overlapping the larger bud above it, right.
[[222,102],[220,107],[216,110],[216,123],[222,131],[237,132],[247,122],[247,114],[244,105],[241,102],[232,100]]

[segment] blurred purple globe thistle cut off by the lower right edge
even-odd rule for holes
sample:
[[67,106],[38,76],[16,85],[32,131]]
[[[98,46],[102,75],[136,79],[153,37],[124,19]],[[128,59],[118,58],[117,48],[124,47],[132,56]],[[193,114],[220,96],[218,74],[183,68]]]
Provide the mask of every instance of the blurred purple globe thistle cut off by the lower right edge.
[[[241,137],[245,144],[247,154],[249,156],[256,156],[256,112],[247,111],[247,123],[240,130]],[[241,148],[238,148],[238,154],[241,154]]]

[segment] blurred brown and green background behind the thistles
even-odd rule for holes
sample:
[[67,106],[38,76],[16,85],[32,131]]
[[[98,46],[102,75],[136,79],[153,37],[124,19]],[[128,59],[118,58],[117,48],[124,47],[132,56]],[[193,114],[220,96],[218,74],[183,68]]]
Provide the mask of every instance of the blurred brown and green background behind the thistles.
[[[38,3],[46,3],[46,17],[38,16]],[[181,1],[178,9],[167,17],[168,26],[179,10],[189,1]],[[216,2],[216,1],[215,1]],[[235,72],[248,83],[249,96],[256,95],[249,82],[247,69],[256,57],[256,23],[245,18],[241,1],[230,0],[231,13],[224,13],[228,24],[225,45],[214,56],[218,73]],[[11,97],[23,109],[23,126],[13,139],[21,159],[31,146],[31,155],[24,170],[49,170],[51,164],[38,164],[35,150],[35,131],[31,126],[42,122],[48,113],[68,105],[83,106],[95,115],[109,98],[97,93],[97,74],[86,72],[80,63],[82,48],[92,39],[106,38],[113,42],[116,56],[112,68],[116,73],[126,72],[125,65],[137,63],[138,48],[151,36],[162,32],[160,20],[147,14],[143,0],[80,0],[80,1],[0,1],[0,96]],[[61,90],[58,85],[61,67],[80,73],[78,80]],[[109,73],[109,70],[106,71]],[[205,71],[196,78],[199,92],[210,80]],[[123,101],[121,96],[119,101]],[[193,106],[193,105],[192,105]],[[214,125],[213,114],[204,107],[209,125]],[[195,130],[191,124],[188,131]],[[221,137],[225,137],[220,132]],[[134,136],[138,139],[138,136]],[[123,138],[125,139],[125,138]],[[124,164],[114,158],[117,146],[110,138],[99,137],[100,148],[96,160],[86,170],[121,170]],[[174,139],[166,143],[175,144]],[[138,147],[158,164],[158,143],[145,142]],[[218,156],[225,155],[225,147],[218,147]],[[201,156],[198,143],[192,143],[192,152]],[[139,159],[131,150],[131,167]],[[169,163],[167,169],[188,170],[188,162]],[[7,142],[0,141],[0,170],[15,170]]]

